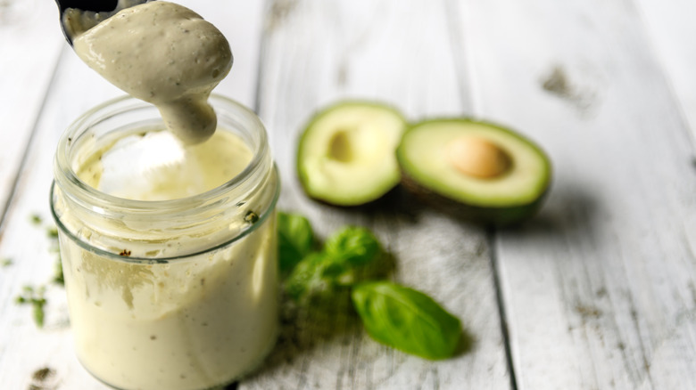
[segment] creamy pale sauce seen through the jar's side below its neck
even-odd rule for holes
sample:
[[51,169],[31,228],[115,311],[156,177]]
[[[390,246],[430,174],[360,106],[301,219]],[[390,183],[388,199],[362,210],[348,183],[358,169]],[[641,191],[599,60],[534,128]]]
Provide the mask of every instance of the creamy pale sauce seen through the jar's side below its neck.
[[61,240],[79,361],[122,389],[205,389],[252,370],[277,331],[275,228],[268,221],[229,248],[158,265]]

